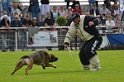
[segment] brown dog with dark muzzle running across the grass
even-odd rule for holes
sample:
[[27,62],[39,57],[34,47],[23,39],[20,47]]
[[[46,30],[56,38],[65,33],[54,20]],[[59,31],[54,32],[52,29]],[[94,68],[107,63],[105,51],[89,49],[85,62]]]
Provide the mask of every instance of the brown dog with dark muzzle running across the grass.
[[24,65],[27,65],[26,75],[28,75],[28,70],[32,69],[33,64],[41,65],[43,69],[45,69],[45,67],[56,68],[56,66],[49,63],[55,62],[57,60],[58,58],[55,57],[53,54],[49,54],[46,51],[37,51],[33,54],[22,56],[20,60],[17,62],[15,70],[11,73],[11,75],[13,75],[17,70],[19,70]]

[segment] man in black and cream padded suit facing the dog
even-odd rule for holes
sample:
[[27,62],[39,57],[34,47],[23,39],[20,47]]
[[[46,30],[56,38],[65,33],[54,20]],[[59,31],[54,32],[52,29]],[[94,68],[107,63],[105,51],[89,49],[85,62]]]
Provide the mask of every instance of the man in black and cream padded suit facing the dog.
[[79,52],[83,70],[99,70],[101,67],[96,50],[102,43],[102,37],[96,29],[96,25],[100,23],[100,20],[92,16],[80,16],[78,13],[72,14],[71,20],[70,29],[64,40],[64,47],[67,48],[74,36],[78,34],[84,40]]

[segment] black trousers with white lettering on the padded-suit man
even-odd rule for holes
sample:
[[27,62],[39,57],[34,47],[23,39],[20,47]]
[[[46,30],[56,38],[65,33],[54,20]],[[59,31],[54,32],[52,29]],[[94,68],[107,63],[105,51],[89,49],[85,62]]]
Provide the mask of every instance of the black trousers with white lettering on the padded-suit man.
[[102,37],[94,37],[91,40],[84,42],[80,48],[79,58],[82,65],[89,65],[89,60],[97,55],[96,50],[100,47],[102,43]]

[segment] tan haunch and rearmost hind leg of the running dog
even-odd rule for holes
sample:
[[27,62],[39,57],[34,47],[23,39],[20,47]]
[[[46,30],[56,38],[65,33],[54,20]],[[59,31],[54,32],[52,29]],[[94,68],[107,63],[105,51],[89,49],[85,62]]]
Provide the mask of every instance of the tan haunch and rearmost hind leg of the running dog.
[[32,67],[33,60],[29,56],[23,56],[20,58],[20,60],[17,62],[15,70],[11,73],[13,75],[18,69],[23,67],[24,65],[30,65]]

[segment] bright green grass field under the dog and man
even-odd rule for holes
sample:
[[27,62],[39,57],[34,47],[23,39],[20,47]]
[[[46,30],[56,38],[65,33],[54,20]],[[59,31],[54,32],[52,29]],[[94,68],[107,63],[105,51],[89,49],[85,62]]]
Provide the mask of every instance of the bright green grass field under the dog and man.
[[34,65],[25,75],[25,68],[18,70],[14,75],[16,62],[27,52],[0,52],[0,82],[123,82],[124,81],[124,51],[98,51],[101,61],[101,70],[96,72],[81,70],[78,51],[73,51],[73,59],[68,51],[48,51],[55,54],[59,60],[53,64],[57,68],[42,69]]

